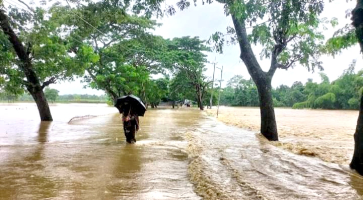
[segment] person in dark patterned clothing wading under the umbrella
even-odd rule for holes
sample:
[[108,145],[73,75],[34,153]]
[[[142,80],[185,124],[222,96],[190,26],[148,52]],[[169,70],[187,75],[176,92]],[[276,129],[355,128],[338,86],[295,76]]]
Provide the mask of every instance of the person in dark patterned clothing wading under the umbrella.
[[122,105],[122,121],[126,141],[129,143],[135,143],[135,133],[140,130],[139,116],[132,112],[132,105],[128,102],[125,102],[124,105]]

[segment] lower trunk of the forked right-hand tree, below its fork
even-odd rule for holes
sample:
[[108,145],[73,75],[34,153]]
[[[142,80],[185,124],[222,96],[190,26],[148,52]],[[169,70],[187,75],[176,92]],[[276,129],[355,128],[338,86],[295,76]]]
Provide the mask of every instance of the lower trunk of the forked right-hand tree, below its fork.
[[261,133],[272,141],[278,140],[277,124],[271,94],[271,81],[257,81],[260,100]]

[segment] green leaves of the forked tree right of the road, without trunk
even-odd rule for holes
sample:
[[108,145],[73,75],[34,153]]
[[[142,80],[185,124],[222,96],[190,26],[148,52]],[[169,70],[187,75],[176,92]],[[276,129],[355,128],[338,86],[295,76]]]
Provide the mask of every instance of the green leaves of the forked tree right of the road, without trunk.
[[[264,46],[261,58],[271,58],[276,45],[282,44],[282,50],[277,54],[280,68],[293,67],[299,62],[308,70],[323,69],[318,58],[324,47],[324,36],[318,27],[323,22],[335,26],[337,20],[318,18],[323,9],[322,0],[218,1],[225,3],[226,15],[233,15],[252,29],[248,40],[251,44]],[[225,43],[239,42],[236,33],[233,27],[227,27],[226,33],[217,31],[208,42],[214,43],[214,49],[222,53]]]

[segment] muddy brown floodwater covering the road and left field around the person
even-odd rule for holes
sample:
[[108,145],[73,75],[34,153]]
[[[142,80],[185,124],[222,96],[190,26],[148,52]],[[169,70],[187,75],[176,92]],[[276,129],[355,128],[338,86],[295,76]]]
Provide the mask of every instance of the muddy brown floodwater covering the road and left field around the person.
[[[360,199],[346,164],[271,145],[193,108],[149,110],[127,144],[102,104],[0,105],[0,199]],[[67,123],[76,115],[98,115]]]

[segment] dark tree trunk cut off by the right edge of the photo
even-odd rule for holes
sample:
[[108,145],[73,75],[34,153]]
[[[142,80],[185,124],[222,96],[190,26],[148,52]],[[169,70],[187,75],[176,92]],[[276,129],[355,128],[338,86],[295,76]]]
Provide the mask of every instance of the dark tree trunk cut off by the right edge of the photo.
[[[352,25],[355,27],[360,51],[363,52],[363,0],[357,0],[351,13]],[[360,97],[359,114],[354,133],[354,153],[349,166],[363,175],[363,94]]]

